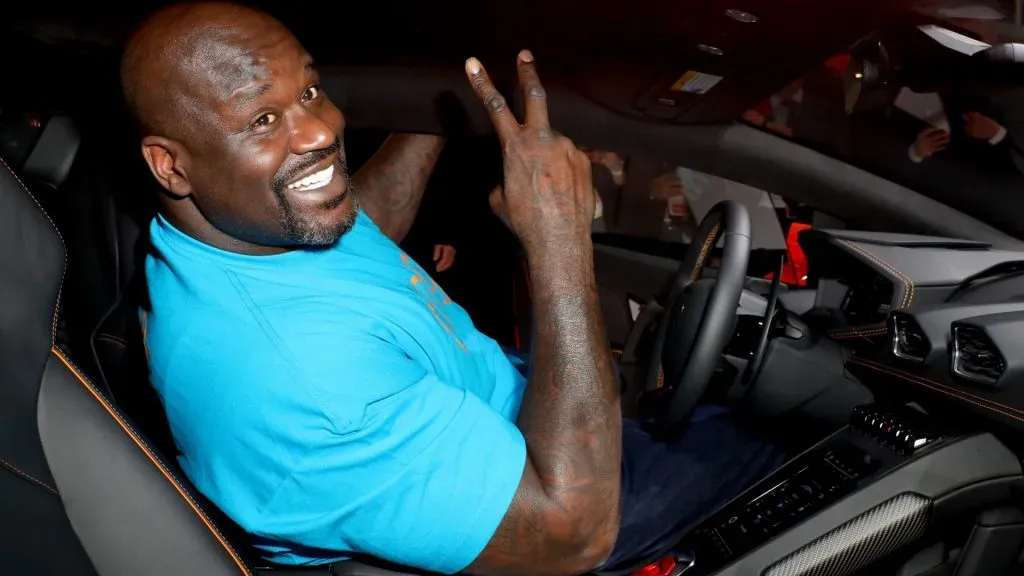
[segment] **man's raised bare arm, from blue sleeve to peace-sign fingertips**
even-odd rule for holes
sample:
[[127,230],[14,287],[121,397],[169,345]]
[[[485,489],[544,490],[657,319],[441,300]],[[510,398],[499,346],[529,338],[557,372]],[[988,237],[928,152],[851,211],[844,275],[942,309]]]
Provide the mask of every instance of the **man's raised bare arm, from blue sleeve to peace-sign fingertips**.
[[519,237],[534,299],[532,365],[516,425],[526,464],[512,505],[469,566],[482,574],[582,574],[618,535],[622,416],[594,279],[590,160],[551,129],[534,56],[520,52],[519,124],[479,61],[470,83],[504,152],[490,203]]

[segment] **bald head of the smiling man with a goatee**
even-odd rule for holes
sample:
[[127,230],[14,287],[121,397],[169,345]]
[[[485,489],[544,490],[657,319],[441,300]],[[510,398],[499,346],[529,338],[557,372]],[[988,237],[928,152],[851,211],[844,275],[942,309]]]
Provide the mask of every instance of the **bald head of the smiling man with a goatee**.
[[344,118],[310,56],[265,14],[199,6],[174,22],[184,29],[177,45],[143,53],[173,67],[151,79],[168,89],[135,94],[140,116],[170,111],[151,120],[159,128],[142,142],[170,193],[165,213],[186,233],[234,251],[333,244],[351,228],[357,203],[341,143]]

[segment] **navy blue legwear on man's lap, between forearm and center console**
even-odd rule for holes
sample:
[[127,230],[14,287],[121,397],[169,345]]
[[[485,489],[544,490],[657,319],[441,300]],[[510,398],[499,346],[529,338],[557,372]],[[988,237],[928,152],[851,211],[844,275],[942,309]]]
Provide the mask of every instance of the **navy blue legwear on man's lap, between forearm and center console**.
[[622,520],[603,572],[659,558],[681,534],[781,465],[777,448],[738,426],[729,411],[698,406],[683,438],[654,441],[623,422]]

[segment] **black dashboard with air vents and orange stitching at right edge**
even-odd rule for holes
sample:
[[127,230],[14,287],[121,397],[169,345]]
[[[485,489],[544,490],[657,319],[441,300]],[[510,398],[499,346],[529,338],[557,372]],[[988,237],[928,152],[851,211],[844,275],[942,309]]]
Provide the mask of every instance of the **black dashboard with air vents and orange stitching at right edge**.
[[820,326],[876,394],[1024,433],[1024,250],[920,236],[809,231]]

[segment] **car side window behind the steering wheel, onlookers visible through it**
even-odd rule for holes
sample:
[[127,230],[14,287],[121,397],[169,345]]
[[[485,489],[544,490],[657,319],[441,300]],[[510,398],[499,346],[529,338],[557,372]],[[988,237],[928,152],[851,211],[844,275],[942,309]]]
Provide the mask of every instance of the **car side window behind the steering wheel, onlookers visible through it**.
[[588,150],[598,202],[595,233],[688,244],[708,212],[734,200],[751,215],[755,249],[783,250],[796,217],[782,197],[671,163]]

